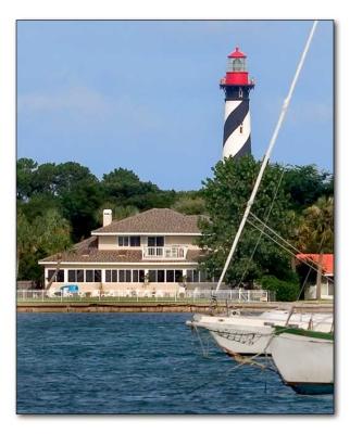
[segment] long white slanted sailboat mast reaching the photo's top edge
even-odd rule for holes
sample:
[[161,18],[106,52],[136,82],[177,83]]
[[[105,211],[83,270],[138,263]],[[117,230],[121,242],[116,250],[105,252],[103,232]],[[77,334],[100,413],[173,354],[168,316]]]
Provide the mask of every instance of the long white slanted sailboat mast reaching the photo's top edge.
[[271,141],[270,141],[267,151],[266,151],[266,153],[265,153],[265,155],[264,155],[264,158],[263,158],[263,161],[262,161],[262,164],[261,164],[261,167],[260,167],[260,171],[259,171],[259,175],[258,175],[258,178],[257,178],[254,188],[253,188],[253,190],[252,190],[252,192],[251,192],[251,195],[250,195],[250,197],[249,197],[249,201],[248,201],[248,203],[247,203],[247,207],[246,207],[243,217],[242,217],[242,219],[241,219],[241,222],[240,222],[240,225],[239,225],[239,228],[238,228],[238,231],[237,231],[237,233],[236,233],[235,240],[234,240],[234,242],[233,242],[232,248],[230,248],[229,254],[228,254],[228,256],[227,256],[227,259],[226,259],[224,269],[223,269],[223,271],[222,271],[222,273],[221,273],[221,277],[220,277],[220,279],[218,279],[218,282],[217,282],[215,292],[217,292],[217,291],[220,290],[220,286],[221,286],[221,284],[222,284],[222,282],[223,282],[223,280],[224,280],[224,277],[225,277],[225,273],[226,273],[226,271],[227,271],[227,268],[228,268],[228,265],[229,265],[229,263],[230,263],[230,259],[232,259],[232,257],[234,256],[234,253],[235,253],[235,251],[236,251],[236,247],[237,247],[239,238],[240,238],[240,235],[241,235],[241,232],[242,232],[242,230],[243,230],[243,228],[245,228],[245,226],[246,226],[246,221],[247,221],[247,219],[248,219],[248,215],[249,215],[249,213],[250,213],[250,208],[251,208],[251,206],[252,206],[252,204],[253,204],[253,202],[254,202],[254,199],[255,199],[258,189],[259,189],[259,187],[260,187],[260,183],[261,183],[261,180],[262,180],[262,177],[263,177],[265,167],[266,167],[266,165],[267,165],[267,163],[268,163],[268,161],[270,161],[270,156],[271,156],[272,150],[273,150],[273,148],[274,148],[274,145],[275,145],[275,142],[276,142],[276,139],[277,139],[279,129],[280,129],[280,127],[282,127],[282,124],[283,124],[283,122],[284,122],[285,115],[286,115],[286,113],[287,113],[287,110],[288,110],[288,106],[289,106],[289,103],[290,103],[290,99],[291,99],[291,95],[292,95],[292,93],[293,93],[293,90],[295,90],[297,80],[298,80],[298,78],[299,78],[299,75],[300,75],[302,65],[303,65],[304,60],[305,60],[305,56],[307,56],[307,53],[308,53],[308,51],[309,51],[310,43],[311,43],[313,34],[314,34],[314,31],[315,31],[316,25],[317,25],[317,21],[314,21],[314,22],[313,22],[313,25],[312,25],[312,28],[311,28],[311,30],[310,30],[310,35],[309,35],[309,38],[308,38],[308,40],[307,40],[304,50],[303,50],[302,55],[301,55],[301,58],[300,58],[300,61],[299,61],[299,64],[298,64],[298,67],[297,67],[295,77],[293,77],[292,82],[291,82],[291,85],[290,85],[289,92],[288,92],[287,98],[285,99],[285,101],[284,101],[284,103],[283,103],[282,111],[280,111],[280,115],[279,115],[278,122],[277,122],[277,124],[276,124],[274,133],[273,133],[273,136],[272,136],[272,138],[271,138]]

